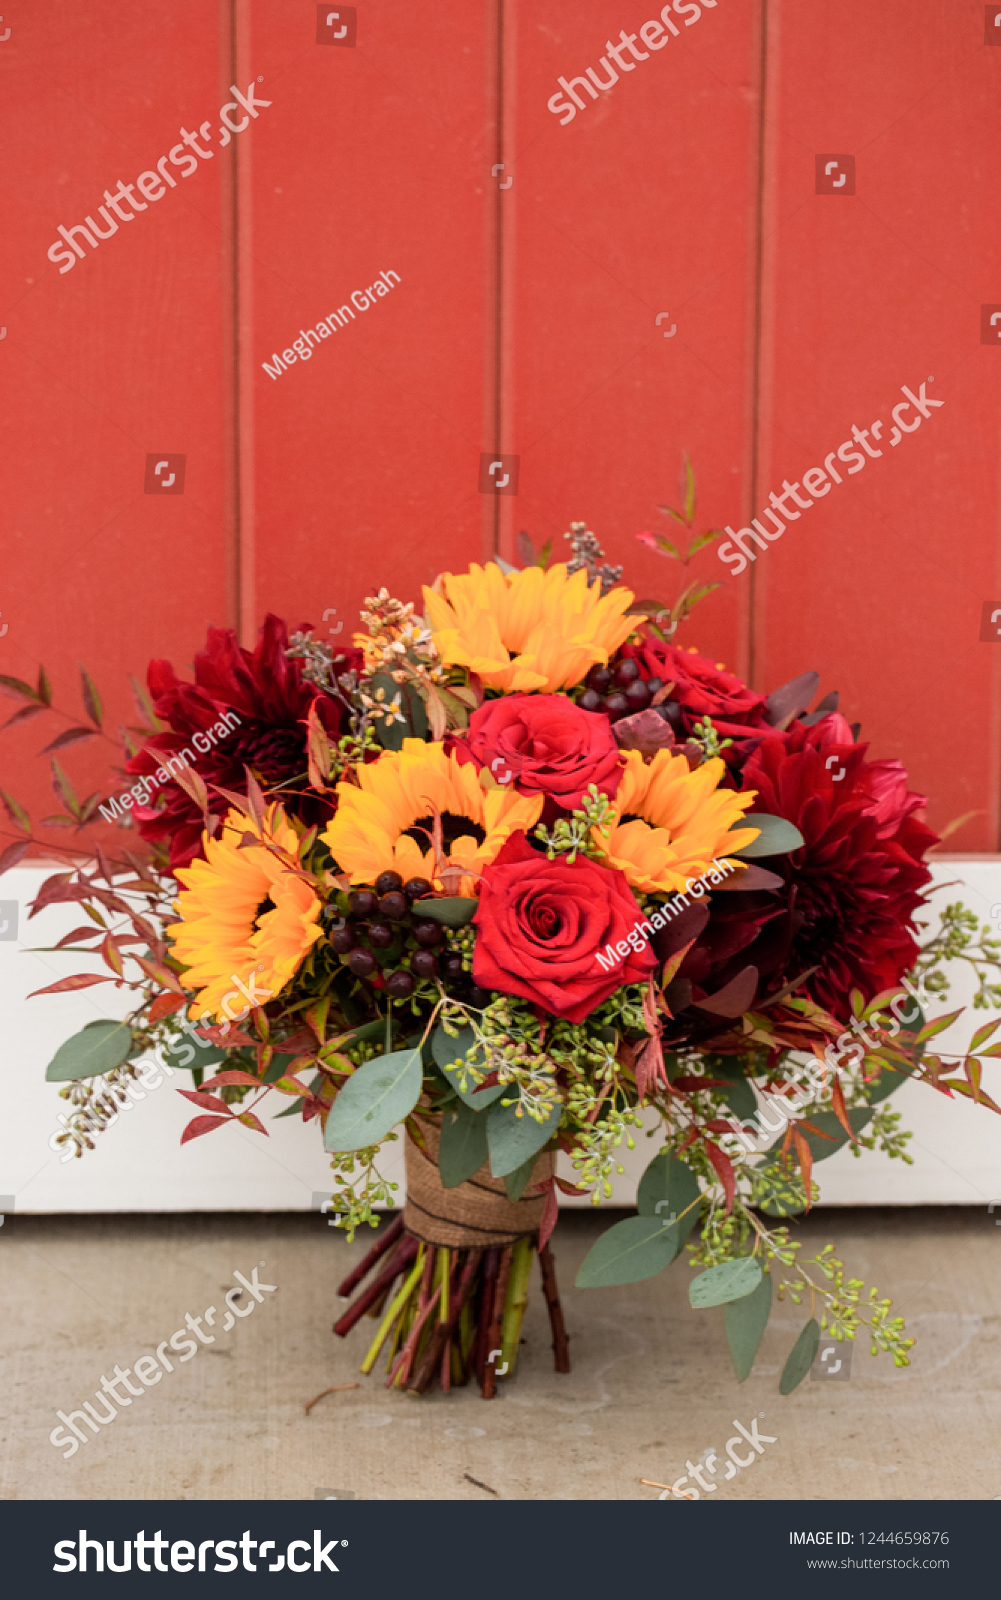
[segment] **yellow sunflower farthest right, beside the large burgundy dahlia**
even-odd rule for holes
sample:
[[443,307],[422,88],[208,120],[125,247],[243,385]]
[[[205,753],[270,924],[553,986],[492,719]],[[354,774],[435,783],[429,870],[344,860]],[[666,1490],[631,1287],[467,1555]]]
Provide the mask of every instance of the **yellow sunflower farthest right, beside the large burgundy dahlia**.
[[638,750],[627,750],[611,832],[608,838],[596,830],[593,835],[609,867],[619,867],[635,890],[673,893],[700,877],[715,858],[750,845],[760,829],[731,829],[753,805],[755,792],[718,789],[724,773],[718,757],[692,771],[684,755],[670,750],[657,750],[649,765]]

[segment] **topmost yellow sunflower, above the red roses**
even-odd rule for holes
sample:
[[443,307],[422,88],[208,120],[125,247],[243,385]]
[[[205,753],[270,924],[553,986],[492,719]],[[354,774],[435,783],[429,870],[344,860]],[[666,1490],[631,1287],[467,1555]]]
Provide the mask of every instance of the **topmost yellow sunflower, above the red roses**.
[[587,570],[568,578],[566,566],[528,566],[502,573],[496,563],[441,579],[443,595],[424,590],[427,616],[445,666],[469,667],[488,688],[555,690],[579,683],[608,658],[636,622],[622,613],[630,589],[601,595]]

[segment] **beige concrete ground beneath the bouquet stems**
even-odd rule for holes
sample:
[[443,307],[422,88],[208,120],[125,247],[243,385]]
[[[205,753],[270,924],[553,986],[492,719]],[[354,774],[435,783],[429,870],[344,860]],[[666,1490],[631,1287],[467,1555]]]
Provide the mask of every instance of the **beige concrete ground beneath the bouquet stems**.
[[[329,1328],[344,1306],[334,1285],[368,1230],[349,1246],[317,1214],[8,1216],[0,1498],[656,1499],[640,1478],[675,1482],[755,1416],[774,1442],[731,1482],[720,1467],[712,1499],[1001,1496],[1001,1230],[985,1208],[808,1218],[804,1254],[835,1240],[918,1344],[895,1371],[859,1341],[847,1382],[808,1379],[788,1398],[779,1371],[808,1309],[772,1310],[739,1386],[723,1312],[689,1309],[681,1262],[646,1283],[574,1288],[614,1219],[563,1213],[553,1240],[572,1373],[552,1370],[536,1277],[516,1378],[488,1403],[475,1387],[416,1400],[360,1376],[374,1323],[347,1339]],[[254,1267],[277,1293],[224,1333],[233,1269]],[[249,1296],[233,1302],[246,1310]],[[48,1438],[56,1410],[96,1405],[102,1374],[133,1368],[208,1306],[216,1342],[184,1365],[174,1350],[174,1371],[64,1461]],[[350,1382],[304,1416],[318,1390]]]

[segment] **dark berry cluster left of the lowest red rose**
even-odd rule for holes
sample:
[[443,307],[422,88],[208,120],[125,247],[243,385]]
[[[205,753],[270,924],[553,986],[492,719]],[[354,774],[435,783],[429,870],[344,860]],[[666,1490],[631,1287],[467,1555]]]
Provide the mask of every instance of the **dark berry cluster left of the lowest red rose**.
[[489,995],[470,986],[462,955],[448,949],[441,923],[421,915],[421,901],[432,894],[427,878],[405,883],[398,872],[379,874],[374,888],[347,896],[347,915],[329,934],[331,950],[347,957],[355,978],[381,974],[393,1000],[409,1000],[421,979],[438,978],[449,990],[465,990],[470,1005],[483,1006]]

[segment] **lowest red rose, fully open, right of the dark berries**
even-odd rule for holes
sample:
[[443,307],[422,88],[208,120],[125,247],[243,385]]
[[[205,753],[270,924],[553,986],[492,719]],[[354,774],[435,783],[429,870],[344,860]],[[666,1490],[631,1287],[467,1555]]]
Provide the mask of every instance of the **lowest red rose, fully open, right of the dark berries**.
[[582,1022],[624,984],[644,982],[657,965],[622,872],[587,856],[548,861],[524,834],[483,874],[473,923],[473,981],[568,1022]]

